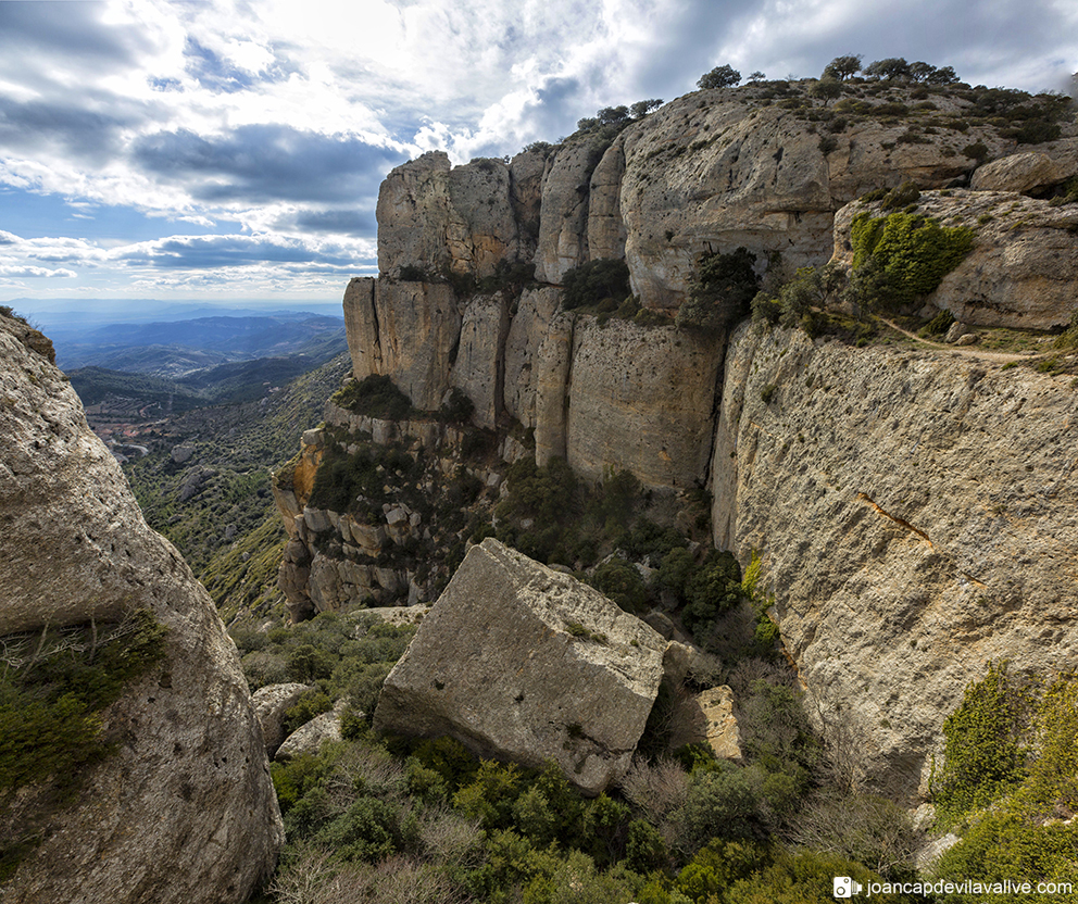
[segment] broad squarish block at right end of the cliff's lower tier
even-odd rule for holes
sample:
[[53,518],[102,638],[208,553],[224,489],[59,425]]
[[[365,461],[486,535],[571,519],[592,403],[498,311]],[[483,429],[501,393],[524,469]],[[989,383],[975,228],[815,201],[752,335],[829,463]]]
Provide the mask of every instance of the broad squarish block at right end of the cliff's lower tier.
[[593,480],[613,467],[649,487],[692,487],[707,473],[722,364],[720,337],[581,317],[573,335],[566,461]]

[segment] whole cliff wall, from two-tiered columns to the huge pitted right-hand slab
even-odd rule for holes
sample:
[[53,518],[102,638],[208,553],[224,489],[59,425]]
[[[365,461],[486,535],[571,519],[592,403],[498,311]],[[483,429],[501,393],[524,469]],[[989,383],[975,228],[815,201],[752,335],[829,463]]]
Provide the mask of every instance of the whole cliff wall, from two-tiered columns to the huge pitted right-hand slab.
[[[1069,378],[657,315],[702,252],[848,266],[853,217],[882,214],[855,199],[912,180],[918,212],[975,233],[926,313],[1065,325],[1078,229],[1045,199],[1078,174],[1076,139],[1026,151],[970,118],[976,92],[864,85],[824,110],[768,90],[680,98],[609,146],[579,135],[509,164],[398,167],[379,198],[381,276],[344,293],[353,374],[390,377],[426,411],[461,390],[475,423],[517,422],[540,463],[564,456],[591,480],[626,468],[661,492],[711,489],[716,547],[763,555],[817,723],[913,794],[988,661],[1050,669],[1073,649]],[[1029,153],[1049,163],[1006,163]],[[611,258],[651,316],[563,310],[565,274]],[[522,263],[535,282],[499,282]]]

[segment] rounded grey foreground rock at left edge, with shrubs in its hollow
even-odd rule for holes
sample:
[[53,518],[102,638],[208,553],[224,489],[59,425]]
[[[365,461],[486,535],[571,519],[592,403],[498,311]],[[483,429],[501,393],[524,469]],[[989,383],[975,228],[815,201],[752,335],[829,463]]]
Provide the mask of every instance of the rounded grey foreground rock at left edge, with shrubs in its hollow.
[[[116,752],[4,887],[4,902],[245,901],[284,840],[236,648],[142,520],[66,378],[0,315],[0,635],[149,610],[164,663],[103,713]],[[11,807],[38,805],[23,789]],[[63,868],[58,868],[62,864]]]

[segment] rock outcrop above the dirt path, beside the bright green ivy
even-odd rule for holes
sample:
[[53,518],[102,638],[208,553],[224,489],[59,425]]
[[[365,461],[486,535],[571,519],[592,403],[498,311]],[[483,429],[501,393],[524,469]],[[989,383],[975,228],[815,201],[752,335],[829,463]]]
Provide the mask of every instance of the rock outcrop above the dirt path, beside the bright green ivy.
[[[835,216],[832,261],[853,262],[850,226],[857,214],[886,212],[853,202]],[[1050,329],[1078,309],[1078,235],[1067,205],[1014,192],[954,189],[922,192],[917,212],[974,230],[970,253],[928,298],[974,326]]]

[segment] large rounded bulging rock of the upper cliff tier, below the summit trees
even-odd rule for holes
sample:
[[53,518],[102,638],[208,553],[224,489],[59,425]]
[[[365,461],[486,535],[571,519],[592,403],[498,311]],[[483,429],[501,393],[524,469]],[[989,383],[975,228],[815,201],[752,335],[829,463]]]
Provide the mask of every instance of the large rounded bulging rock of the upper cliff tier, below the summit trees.
[[[843,204],[905,180],[942,188],[970,166],[947,136],[898,142],[905,124],[870,120],[836,134],[824,153],[815,124],[780,106],[753,106],[750,96],[687,95],[623,133],[624,150],[607,151],[625,155],[625,258],[645,306],[677,307],[704,251],[743,246],[761,268],[775,253],[791,272],[819,266]],[[1006,145],[992,129],[972,129],[964,140],[993,153]]]

